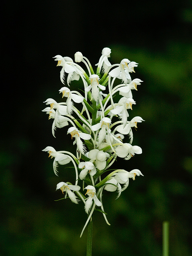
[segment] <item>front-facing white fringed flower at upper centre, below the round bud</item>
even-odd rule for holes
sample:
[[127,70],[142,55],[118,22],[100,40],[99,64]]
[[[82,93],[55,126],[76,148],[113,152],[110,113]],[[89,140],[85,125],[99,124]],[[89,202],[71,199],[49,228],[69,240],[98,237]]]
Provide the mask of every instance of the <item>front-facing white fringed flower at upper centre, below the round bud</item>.
[[85,88],[86,92],[89,92],[91,90],[92,93],[92,98],[97,101],[98,100],[98,96],[99,96],[99,89],[101,90],[105,90],[106,87],[99,84],[98,80],[99,80],[99,76],[96,74],[93,74],[89,77],[90,80],[90,85],[88,87]]

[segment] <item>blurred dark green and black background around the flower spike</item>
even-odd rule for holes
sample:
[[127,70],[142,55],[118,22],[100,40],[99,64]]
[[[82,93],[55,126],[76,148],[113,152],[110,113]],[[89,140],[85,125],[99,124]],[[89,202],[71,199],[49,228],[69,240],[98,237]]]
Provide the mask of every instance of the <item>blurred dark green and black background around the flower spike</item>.
[[170,222],[170,256],[192,253],[192,1],[6,1],[2,4],[1,245],[2,256],[86,255],[82,203],[61,200],[60,181],[41,150],[72,145],[66,129],[51,134],[43,101],[60,101],[62,87],[54,57],[74,59],[81,51],[92,65],[102,48],[110,62],[139,63],[132,78],[130,118],[145,122],[134,131],[143,154],[118,168],[138,168],[118,200],[105,192],[102,214],[94,216],[93,256],[162,255],[162,222]]

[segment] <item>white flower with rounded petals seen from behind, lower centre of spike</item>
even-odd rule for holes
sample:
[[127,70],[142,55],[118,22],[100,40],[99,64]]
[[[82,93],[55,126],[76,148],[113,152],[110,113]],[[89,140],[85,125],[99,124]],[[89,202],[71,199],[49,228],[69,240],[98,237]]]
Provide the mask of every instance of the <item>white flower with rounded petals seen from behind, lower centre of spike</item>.
[[102,150],[92,149],[87,152],[85,156],[90,158],[90,161],[95,161],[95,166],[98,170],[104,170],[106,167],[106,159],[109,157],[109,154]]

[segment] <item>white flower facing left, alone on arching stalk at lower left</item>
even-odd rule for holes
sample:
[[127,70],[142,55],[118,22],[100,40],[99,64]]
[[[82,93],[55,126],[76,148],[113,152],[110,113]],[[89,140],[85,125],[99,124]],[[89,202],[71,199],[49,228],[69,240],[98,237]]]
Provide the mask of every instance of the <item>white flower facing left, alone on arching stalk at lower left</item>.
[[51,158],[54,157],[53,170],[57,176],[58,176],[58,170],[57,170],[58,164],[64,165],[64,164],[68,164],[71,161],[67,155],[58,153],[53,147],[48,146],[44,148],[42,151],[48,152],[49,157]]

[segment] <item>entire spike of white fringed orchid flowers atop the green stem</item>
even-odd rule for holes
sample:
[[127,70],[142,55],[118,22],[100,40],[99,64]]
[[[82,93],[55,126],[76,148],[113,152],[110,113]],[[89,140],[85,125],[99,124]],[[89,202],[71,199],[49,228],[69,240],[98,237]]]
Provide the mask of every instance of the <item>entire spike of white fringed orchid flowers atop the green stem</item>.
[[[59,165],[69,162],[74,165],[75,184],[60,182],[56,190],[66,192],[65,198],[69,197],[75,204],[80,200],[84,203],[88,214],[84,228],[96,207],[101,207],[100,211],[108,223],[102,204],[103,190],[118,192],[118,198],[128,187],[129,178],[134,180],[136,175],[142,175],[138,169],[130,172],[122,169],[109,170],[118,157],[129,160],[134,154],[142,153],[139,146],[132,146],[132,127],[137,128],[137,123],[144,121],[140,116],[128,120],[129,111],[132,110],[132,105],[136,104],[132,98],[132,90],[137,90],[137,86],[142,82],[138,78],[132,80],[130,77],[138,63],[123,59],[120,64],[111,65],[108,60],[110,53],[110,48],[102,50],[102,56],[96,64],[96,74],[89,60],[81,52],[76,52],[75,62],[69,57],[56,55],[54,58],[58,61],[57,66],[62,66],[61,82],[64,84],[67,75],[66,83],[70,87],[73,80],[81,78],[84,94],[64,86],[59,93],[62,93],[62,98],[66,97],[66,100],[57,103],[48,98],[45,103],[50,106],[42,110],[49,114],[49,119],[53,119],[54,137],[56,128],[70,126],[67,134],[71,134],[73,145],[76,144],[76,156],[68,151],[56,151],[51,146],[47,146],[43,151],[54,158],[53,170],[56,175]],[[85,72],[78,62],[83,62],[88,72]],[[116,98],[119,99],[118,102],[115,102]],[[82,106],[81,111],[77,106]],[[124,135],[128,135],[129,143],[123,142]],[[112,172],[102,178],[106,171]],[[78,185],[80,180],[81,187]],[[81,188],[86,189],[86,193],[80,192]]]

